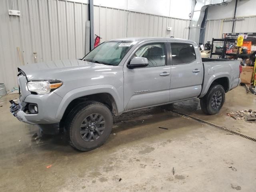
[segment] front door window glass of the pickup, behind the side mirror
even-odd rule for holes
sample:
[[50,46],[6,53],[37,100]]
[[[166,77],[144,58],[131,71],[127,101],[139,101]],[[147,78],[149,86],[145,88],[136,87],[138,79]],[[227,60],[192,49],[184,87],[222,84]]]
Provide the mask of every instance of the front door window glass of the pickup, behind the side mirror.
[[132,58],[145,57],[148,59],[148,67],[165,66],[165,48],[163,43],[147,44],[139,48]]

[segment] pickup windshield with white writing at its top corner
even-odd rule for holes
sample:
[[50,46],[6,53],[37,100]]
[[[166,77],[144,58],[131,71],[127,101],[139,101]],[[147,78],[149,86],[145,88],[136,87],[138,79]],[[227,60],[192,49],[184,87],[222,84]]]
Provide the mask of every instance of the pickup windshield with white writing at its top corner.
[[108,41],[89,52],[82,60],[117,66],[125,54],[134,46],[132,41]]

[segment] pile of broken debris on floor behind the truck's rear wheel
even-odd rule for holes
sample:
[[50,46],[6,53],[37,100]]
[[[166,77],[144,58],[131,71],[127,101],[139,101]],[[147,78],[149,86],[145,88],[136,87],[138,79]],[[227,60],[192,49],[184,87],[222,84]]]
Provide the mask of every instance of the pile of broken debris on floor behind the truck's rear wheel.
[[226,114],[227,116],[230,116],[236,120],[245,120],[246,122],[256,122],[256,111],[254,110],[240,110],[240,111],[234,111],[228,112]]

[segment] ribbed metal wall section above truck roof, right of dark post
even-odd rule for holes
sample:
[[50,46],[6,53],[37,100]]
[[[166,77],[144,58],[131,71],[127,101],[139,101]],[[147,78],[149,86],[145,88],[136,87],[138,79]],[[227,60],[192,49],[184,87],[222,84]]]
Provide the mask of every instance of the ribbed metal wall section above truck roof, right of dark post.
[[188,20],[94,6],[94,33],[102,42],[138,36],[188,38],[188,25]]

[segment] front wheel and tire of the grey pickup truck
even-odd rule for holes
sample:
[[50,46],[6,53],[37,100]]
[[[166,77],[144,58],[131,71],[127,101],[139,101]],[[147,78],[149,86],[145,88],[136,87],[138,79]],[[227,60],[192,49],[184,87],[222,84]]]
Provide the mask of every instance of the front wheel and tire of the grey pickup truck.
[[107,140],[113,117],[104,104],[89,101],[72,110],[65,124],[70,145],[80,151],[90,151]]

